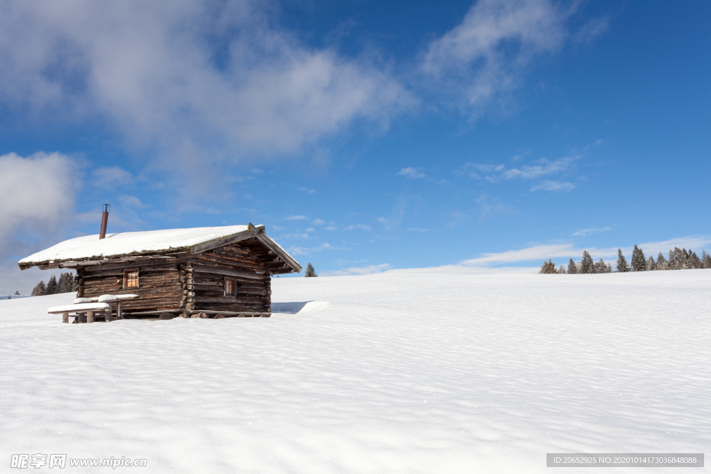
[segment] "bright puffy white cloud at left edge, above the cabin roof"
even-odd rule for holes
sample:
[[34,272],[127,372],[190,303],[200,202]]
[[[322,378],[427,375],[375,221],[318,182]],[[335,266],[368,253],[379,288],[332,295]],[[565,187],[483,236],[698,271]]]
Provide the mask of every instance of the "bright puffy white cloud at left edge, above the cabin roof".
[[53,232],[72,215],[79,185],[75,163],[61,153],[0,156],[0,238],[18,230]]

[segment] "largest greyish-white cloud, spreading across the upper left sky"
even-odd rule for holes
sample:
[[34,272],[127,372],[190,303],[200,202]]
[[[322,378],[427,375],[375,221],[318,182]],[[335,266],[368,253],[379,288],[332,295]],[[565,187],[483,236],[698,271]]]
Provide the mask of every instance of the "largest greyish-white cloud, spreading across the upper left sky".
[[364,58],[304,45],[259,2],[3,2],[0,96],[81,123],[99,117],[163,166],[294,153],[415,104]]

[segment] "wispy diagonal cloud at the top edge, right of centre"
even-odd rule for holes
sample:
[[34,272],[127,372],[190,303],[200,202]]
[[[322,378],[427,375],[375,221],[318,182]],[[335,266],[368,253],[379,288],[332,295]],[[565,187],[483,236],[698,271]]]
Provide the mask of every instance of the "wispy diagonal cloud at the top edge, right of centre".
[[429,45],[421,68],[481,107],[517,87],[537,55],[562,47],[568,14],[549,0],[477,1]]

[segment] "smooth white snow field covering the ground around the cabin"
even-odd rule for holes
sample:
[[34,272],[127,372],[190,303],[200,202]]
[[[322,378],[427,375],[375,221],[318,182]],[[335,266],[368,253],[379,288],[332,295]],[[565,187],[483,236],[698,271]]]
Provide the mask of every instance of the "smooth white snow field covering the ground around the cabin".
[[64,295],[0,301],[0,321],[26,322],[0,331],[0,462],[547,473],[547,452],[711,451],[709,270],[272,289],[272,318],[73,325],[43,314]]

